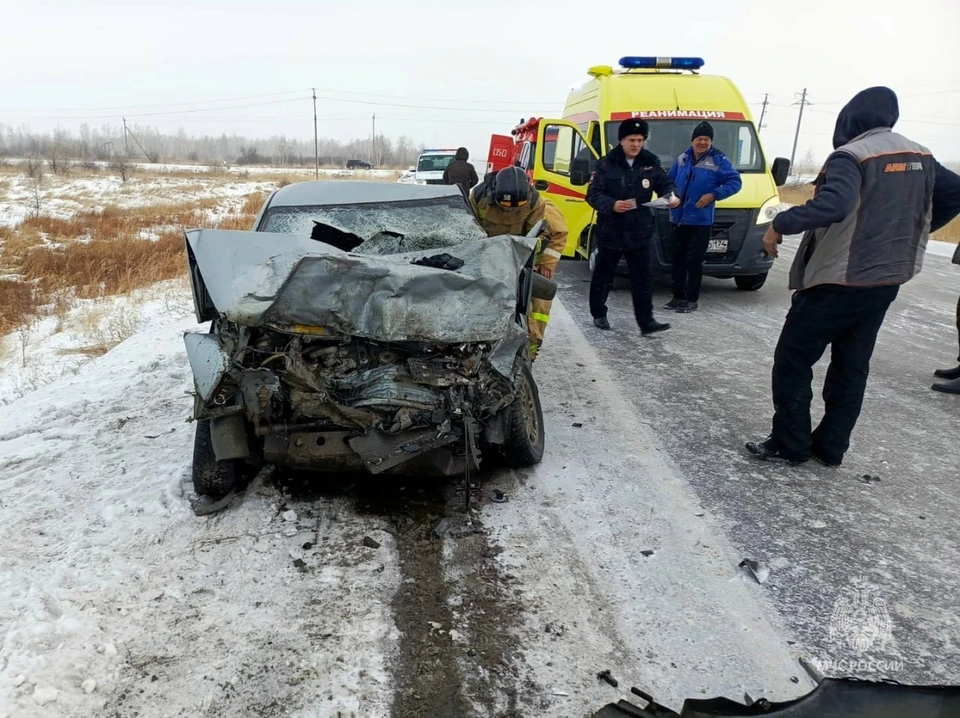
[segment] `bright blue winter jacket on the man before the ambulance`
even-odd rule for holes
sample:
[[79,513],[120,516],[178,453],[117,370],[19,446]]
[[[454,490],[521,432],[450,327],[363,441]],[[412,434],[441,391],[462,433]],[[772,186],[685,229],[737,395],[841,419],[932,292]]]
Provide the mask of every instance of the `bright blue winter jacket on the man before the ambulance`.
[[711,147],[699,162],[694,161],[693,147],[677,157],[670,168],[670,179],[680,193],[680,206],[670,210],[673,224],[711,225],[716,205],[697,208],[697,202],[705,194],[712,194],[719,202],[732,197],[743,183],[733,163],[716,147]]

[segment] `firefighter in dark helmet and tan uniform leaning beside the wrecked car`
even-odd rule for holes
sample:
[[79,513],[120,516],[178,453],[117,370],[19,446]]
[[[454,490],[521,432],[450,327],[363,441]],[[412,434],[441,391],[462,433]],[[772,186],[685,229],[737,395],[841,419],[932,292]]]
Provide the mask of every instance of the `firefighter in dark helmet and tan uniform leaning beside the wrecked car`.
[[[470,205],[488,237],[501,234],[526,235],[544,221],[537,244],[533,269],[553,279],[567,246],[567,224],[553,202],[542,197],[519,167],[505,167],[488,174],[470,193]],[[536,359],[543,345],[553,302],[533,299],[527,320],[530,326],[530,358]]]

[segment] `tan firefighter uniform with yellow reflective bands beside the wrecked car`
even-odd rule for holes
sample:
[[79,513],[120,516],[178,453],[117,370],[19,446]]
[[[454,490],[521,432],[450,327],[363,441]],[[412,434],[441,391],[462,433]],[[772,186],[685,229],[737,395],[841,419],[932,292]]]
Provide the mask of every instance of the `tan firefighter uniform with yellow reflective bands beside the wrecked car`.
[[[491,178],[492,179],[492,178]],[[506,209],[493,199],[490,182],[485,181],[470,194],[470,205],[488,237],[502,234],[526,235],[540,220],[545,220],[534,258],[534,268],[556,270],[567,246],[567,224],[553,202],[530,189],[530,200],[523,207]],[[533,299],[527,315],[530,328],[530,356],[536,359],[550,321],[552,301]]]

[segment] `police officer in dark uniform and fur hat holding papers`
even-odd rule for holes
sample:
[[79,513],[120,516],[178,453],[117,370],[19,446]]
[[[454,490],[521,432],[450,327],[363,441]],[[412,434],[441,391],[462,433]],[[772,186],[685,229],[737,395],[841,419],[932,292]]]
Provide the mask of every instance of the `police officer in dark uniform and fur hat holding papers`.
[[607,296],[624,257],[633,286],[633,312],[644,336],[669,329],[653,318],[653,213],[644,202],[656,192],[673,195],[668,207],[680,205],[673,180],[663,171],[660,160],[643,143],[650,134],[645,120],[620,123],[620,144],[597,162],[587,189],[587,203],[597,210],[597,257],[590,281],[590,314],[600,329],[609,329]]

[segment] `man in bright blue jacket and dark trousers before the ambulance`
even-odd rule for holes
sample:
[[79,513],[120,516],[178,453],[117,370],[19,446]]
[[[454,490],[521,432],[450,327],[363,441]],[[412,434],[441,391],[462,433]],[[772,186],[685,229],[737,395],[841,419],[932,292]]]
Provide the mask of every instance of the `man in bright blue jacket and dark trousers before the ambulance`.
[[664,307],[695,312],[703,281],[716,203],[732,197],[743,186],[740,173],[713,146],[713,126],[693,128],[691,145],[670,168],[670,179],[680,192],[680,206],[670,213],[673,224],[673,299]]

